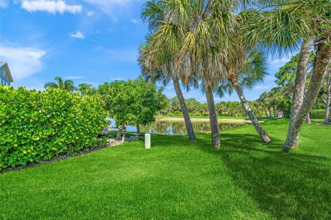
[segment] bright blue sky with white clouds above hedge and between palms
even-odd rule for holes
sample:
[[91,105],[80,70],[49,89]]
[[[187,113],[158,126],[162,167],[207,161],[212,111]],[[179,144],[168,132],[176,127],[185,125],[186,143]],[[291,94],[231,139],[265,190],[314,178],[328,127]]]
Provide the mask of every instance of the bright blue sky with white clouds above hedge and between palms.
[[[138,48],[148,33],[140,19],[142,0],[0,0],[0,60],[8,62],[14,83],[43,90],[59,76],[97,86],[135,79]],[[274,87],[274,73],[288,57],[272,59],[264,83],[245,91],[249,100]],[[174,97],[171,84],[165,87]],[[185,98],[205,102],[200,90]],[[215,101],[238,100],[237,94]]]

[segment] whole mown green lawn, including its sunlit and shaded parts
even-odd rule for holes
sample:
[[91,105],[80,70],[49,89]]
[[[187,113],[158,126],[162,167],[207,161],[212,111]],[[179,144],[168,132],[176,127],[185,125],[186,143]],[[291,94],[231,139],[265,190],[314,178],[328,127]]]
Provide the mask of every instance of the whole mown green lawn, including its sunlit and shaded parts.
[[280,151],[287,123],[152,136],[83,157],[0,174],[0,219],[331,219],[331,126],[305,125]]

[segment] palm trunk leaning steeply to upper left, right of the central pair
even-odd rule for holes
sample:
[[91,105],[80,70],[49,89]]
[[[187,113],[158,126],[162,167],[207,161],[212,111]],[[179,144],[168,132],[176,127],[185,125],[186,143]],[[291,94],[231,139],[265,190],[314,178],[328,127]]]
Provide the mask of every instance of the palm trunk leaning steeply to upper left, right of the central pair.
[[268,137],[268,134],[261,127],[261,124],[257,120],[257,117],[255,117],[255,114],[252,111],[252,109],[250,108],[250,105],[249,105],[247,99],[245,99],[245,96],[243,94],[243,90],[242,90],[241,86],[239,85],[237,79],[235,79],[234,77],[232,77],[231,78],[231,83],[234,86],[234,89],[236,90],[236,92],[238,94],[238,97],[239,97],[239,99],[241,101],[241,104],[243,104],[243,108],[245,109],[245,111],[248,114],[248,117],[250,118],[250,121],[252,121],[252,124],[253,124],[255,130],[257,130],[257,132],[259,133],[261,139],[265,143],[270,143],[270,138]]

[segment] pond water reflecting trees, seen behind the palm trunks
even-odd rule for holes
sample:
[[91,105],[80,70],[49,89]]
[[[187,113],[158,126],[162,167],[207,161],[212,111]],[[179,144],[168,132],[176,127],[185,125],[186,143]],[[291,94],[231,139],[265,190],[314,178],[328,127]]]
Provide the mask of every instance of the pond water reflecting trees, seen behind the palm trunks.
[[[210,132],[210,123],[208,121],[192,121],[194,132]],[[243,126],[244,123],[219,123],[219,131],[228,130]],[[112,120],[111,126],[114,127]],[[153,134],[187,134],[184,121],[155,121],[148,126],[140,126],[141,132]],[[128,126],[128,132],[137,132],[137,128]]]

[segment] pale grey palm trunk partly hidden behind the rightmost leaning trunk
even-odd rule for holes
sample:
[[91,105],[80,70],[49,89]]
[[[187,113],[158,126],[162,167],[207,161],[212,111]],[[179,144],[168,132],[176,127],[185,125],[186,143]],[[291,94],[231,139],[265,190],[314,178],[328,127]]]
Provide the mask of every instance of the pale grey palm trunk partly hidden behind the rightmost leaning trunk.
[[[304,40],[301,46],[299,62],[297,66],[297,73],[294,82],[294,91],[292,98],[292,109],[290,113],[290,126],[293,125],[294,120],[297,117],[297,114],[301,108],[303,103],[303,97],[305,94],[305,79],[307,77],[307,66],[309,61],[309,55],[312,52],[312,40]],[[292,143],[292,147],[297,148],[299,145],[299,133]]]

